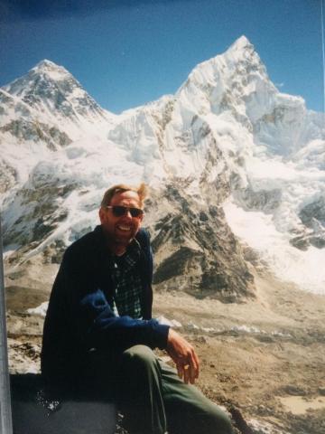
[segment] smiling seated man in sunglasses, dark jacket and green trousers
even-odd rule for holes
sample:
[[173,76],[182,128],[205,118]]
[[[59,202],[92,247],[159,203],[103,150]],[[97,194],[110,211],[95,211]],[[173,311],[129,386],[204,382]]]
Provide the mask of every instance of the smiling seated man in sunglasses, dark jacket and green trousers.
[[[192,385],[194,348],[152,319],[144,196],[144,184],[108,189],[101,225],[66,250],[44,324],[42,373],[56,386],[117,401],[131,433],[229,434],[226,414]],[[155,347],[170,354],[178,375]]]

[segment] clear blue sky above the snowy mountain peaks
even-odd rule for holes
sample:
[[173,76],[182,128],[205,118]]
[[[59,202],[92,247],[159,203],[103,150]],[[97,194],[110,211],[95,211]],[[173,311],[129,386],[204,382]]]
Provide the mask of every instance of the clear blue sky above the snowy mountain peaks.
[[245,34],[279,89],[322,111],[320,1],[0,0],[0,86],[49,59],[119,113]]

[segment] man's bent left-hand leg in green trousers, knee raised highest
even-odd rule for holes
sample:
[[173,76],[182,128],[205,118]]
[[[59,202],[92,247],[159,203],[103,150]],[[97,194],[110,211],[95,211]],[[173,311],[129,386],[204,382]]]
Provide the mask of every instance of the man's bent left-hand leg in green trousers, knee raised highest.
[[120,402],[130,434],[163,434],[166,415],[162,394],[161,366],[145,345],[127,349],[118,369]]

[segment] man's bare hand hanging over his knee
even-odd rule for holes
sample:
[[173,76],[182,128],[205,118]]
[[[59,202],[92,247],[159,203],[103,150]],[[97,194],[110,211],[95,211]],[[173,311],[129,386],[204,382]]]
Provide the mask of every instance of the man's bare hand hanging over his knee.
[[169,329],[167,339],[167,353],[176,363],[177,373],[184,382],[194,383],[199,377],[199,358],[194,348],[172,328]]

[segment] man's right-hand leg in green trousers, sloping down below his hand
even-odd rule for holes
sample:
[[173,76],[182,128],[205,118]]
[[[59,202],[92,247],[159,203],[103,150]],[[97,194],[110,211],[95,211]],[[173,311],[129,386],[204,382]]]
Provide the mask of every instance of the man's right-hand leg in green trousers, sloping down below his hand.
[[227,414],[175,370],[161,363],[163,401],[169,434],[231,434]]

